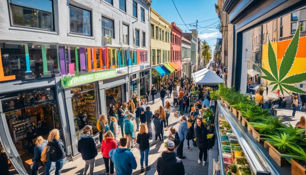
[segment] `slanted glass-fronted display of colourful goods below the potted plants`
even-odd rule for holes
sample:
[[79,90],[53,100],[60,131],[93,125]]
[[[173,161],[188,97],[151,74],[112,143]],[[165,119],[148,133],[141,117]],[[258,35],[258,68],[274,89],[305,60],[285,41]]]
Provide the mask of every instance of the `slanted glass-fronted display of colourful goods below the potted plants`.
[[[221,116],[219,116],[220,119]],[[222,145],[222,157],[226,174],[251,175],[249,162],[241,149],[236,135],[226,120],[220,120],[220,139]]]

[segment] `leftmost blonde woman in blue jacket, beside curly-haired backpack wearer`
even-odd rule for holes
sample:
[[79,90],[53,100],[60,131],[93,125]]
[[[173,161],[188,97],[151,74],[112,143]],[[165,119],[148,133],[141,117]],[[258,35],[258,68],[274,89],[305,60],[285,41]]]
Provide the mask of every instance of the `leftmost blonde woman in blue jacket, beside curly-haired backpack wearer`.
[[33,158],[33,163],[34,164],[32,166],[32,175],[37,174],[39,162],[41,162],[40,161],[41,153],[43,152],[43,149],[47,145],[47,140],[44,140],[42,136],[38,136],[36,138],[35,145],[36,146],[34,148],[34,158]]

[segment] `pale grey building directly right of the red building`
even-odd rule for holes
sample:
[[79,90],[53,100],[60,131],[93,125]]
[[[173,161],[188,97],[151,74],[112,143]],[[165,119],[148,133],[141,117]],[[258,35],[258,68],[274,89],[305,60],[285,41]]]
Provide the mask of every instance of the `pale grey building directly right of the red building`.
[[182,36],[182,64],[183,70],[182,75],[191,77],[191,42]]

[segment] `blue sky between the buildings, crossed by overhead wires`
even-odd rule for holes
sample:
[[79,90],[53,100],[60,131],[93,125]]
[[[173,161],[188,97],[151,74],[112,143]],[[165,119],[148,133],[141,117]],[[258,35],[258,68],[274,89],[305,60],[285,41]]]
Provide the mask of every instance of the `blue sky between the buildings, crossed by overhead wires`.
[[[221,38],[221,33],[219,32],[219,29],[216,29],[217,24],[219,24],[219,19],[217,18],[218,15],[215,11],[215,3],[217,3],[217,0],[174,0],[174,3],[186,25],[190,23],[195,23],[196,20],[200,22],[212,19],[210,21],[198,23],[198,28],[206,26],[212,27],[211,29],[198,29],[198,37],[202,40],[205,39],[207,43],[211,46],[212,51],[214,51],[214,45],[217,41],[214,38]],[[187,27],[189,29],[196,29],[195,27],[191,27],[189,25],[187,25],[187,27],[185,25],[178,25],[184,23],[178,15],[172,0],[152,0],[151,7],[170,23],[176,22],[177,26],[179,26],[183,32],[185,32],[186,30],[186,32],[188,33]]]

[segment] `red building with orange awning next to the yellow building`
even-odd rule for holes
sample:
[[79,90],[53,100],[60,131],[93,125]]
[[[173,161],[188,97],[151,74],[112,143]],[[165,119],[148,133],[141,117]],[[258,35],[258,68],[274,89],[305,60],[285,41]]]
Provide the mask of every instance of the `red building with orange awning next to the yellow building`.
[[175,24],[171,23],[171,63],[170,65],[175,69],[174,78],[181,77],[181,68],[183,67],[181,62],[181,37],[182,30]]

